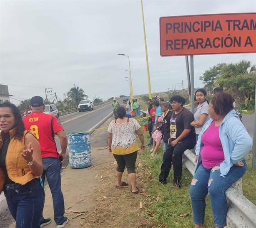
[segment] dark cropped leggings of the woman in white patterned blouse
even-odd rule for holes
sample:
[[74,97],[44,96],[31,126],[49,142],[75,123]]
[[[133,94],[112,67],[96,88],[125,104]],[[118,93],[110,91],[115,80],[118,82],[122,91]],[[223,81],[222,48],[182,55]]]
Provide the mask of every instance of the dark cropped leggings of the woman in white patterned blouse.
[[137,159],[137,151],[131,154],[113,154],[116,162],[117,168],[116,171],[124,172],[125,166],[127,168],[128,173],[135,173],[135,164]]

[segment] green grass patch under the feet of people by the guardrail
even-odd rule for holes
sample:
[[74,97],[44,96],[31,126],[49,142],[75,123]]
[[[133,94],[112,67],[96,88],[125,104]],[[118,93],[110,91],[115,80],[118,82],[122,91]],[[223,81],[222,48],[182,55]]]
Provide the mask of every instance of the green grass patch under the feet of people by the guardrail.
[[[146,141],[149,140],[148,134],[144,134]],[[151,203],[148,204],[148,216],[153,217],[157,227],[184,228],[193,227],[193,212],[189,196],[189,186],[192,175],[183,166],[182,184],[183,187],[178,190],[170,191],[172,186],[173,169],[167,179],[166,185],[158,182],[158,175],[163,156],[163,148],[158,150],[158,155],[151,157],[149,149],[139,154],[138,161],[148,167],[151,173],[151,179],[147,180],[147,192],[150,195]],[[205,227],[214,227],[213,216],[209,197],[206,197],[206,217]]]

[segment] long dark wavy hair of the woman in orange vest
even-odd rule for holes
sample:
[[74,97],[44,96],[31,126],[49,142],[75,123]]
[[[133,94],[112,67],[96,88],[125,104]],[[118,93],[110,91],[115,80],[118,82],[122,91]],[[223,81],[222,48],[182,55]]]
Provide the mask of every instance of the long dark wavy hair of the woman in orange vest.
[[14,128],[16,128],[14,132],[14,137],[19,140],[22,140],[23,134],[25,131],[25,126],[22,121],[20,111],[18,110],[18,108],[13,103],[10,103],[10,102],[4,102],[0,104],[0,108],[10,108],[12,110],[12,113],[15,119]]

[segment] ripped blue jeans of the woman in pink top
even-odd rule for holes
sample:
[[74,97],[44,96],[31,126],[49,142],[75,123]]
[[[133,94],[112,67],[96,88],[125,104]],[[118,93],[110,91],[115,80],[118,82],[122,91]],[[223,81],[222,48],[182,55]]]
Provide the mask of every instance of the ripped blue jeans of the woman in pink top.
[[213,169],[206,169],[203,167],[203,164],[199,165],[189,190],[195,224],[203,225],[204,223],[205,197],[209,193],[214,225],[226,226],[228,205],[225,192],[231,184],[235,183],[245,174],[246,162],[245,160],[242,162],[244,163],[243,167],[232,166],[224,177],[221,177],[220,169],[218,169],[219,166],[213,167]]

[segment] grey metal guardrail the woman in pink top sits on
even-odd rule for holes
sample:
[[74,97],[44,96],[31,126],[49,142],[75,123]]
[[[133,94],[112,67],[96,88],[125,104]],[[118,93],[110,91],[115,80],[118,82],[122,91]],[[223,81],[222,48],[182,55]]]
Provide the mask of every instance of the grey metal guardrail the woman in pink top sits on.
[[[196,155],[190,150],[186,150],[183,154],[183,164],[188,171],[194,175]],[[249,201],[241,191],[234,189],[232,185],[226,191],[228,200],[227,221],[229,228],[256,228],[256,206]]]

